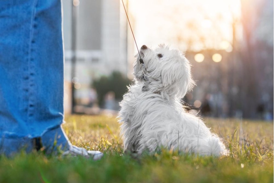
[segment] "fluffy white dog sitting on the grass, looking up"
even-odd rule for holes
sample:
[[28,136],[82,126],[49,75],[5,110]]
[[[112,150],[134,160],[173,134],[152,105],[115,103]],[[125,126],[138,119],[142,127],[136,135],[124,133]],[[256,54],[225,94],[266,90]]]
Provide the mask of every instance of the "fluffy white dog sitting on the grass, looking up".
[[192,89],[189,61],[164,45],[140,49],[145,70],[134,64],[135,84],[120,103],[119,122],[124,150],[153,153],[160,148],[221,156],[228,153],[203,121],[184,110],[180,99]]

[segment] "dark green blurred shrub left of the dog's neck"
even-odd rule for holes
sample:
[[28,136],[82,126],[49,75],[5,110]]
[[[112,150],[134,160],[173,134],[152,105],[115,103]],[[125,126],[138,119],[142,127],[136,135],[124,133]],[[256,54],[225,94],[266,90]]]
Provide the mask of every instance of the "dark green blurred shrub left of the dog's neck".
[[96,88],[99,106],[103,107],[104,97],[109,91],[115,93],[115,100],[122,100],[123,95],[127,91],[127,86],[130,83],[132,83],[132,81],[119,71],[114,71],[109,76],[102,76],[94,80],[92,87]]

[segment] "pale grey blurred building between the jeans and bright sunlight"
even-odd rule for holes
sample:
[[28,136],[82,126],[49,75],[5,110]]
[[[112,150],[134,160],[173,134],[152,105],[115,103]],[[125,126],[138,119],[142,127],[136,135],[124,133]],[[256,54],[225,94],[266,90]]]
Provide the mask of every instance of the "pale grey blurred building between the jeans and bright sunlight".
[[[77,6],[76,35],[72,35],[73,2]],[[93,79],[113,71],[127,75],[127,20],[120,0],[63,1],[63,32],[67,85],[71,83],[72,37],[76,38],[74,82],[78,83],[75,97],[79,103],[88,104]],[[65,92],[70,96],[69,89]],[[65,106],[70,106],[68,100]]]

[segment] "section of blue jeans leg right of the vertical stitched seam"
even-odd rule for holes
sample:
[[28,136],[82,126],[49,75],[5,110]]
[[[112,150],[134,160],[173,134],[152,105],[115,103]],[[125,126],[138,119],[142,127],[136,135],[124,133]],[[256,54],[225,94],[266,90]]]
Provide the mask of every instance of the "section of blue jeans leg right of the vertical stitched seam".
[[29,40],[29,126],[32,137],[42,136],[47,151],[69,142],[63,122],[64,59],[60,0],[34,1]]

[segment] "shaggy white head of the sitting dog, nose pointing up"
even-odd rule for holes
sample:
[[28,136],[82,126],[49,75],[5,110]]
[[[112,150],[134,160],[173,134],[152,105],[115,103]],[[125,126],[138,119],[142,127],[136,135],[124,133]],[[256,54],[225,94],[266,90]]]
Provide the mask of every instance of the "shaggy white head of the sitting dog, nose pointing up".
[[[179,50],[165,45],[152,50],[143,45],[139,52],[147,70],[148,87],[151,85],[162,93],[182,98],[194,86],[189,61]],[[138,55],[133,74],[137,81],[143,81],[144,69],[139,59]]]

